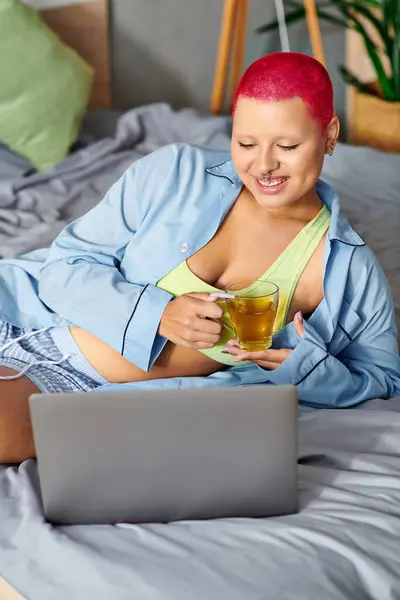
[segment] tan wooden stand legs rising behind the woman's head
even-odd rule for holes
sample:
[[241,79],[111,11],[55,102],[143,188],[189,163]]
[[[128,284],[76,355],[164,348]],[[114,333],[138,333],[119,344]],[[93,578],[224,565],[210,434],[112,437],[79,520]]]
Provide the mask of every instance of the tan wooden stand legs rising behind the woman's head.
[[[313,55],[325,65],[315,0],[304,0],[304,7],[306,9],[308,34],[311,40]],[[228,71],[231,55],[233,54],[232,77],[229,88],[229,108],[232,107],[234,95],[243,73],[247,13],[248,0],[225,0],[211,96],[210,111],[213,114],[220,113],[223,108]]]

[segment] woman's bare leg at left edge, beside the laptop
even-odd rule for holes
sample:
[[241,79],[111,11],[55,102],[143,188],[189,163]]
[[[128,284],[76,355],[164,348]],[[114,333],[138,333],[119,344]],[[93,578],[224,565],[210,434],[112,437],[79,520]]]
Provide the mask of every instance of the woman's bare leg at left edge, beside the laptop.
[[[14,374],[0,367],[0,376]],[[0,381],[0,464],[35,457],[28,398],[37,393],[39,389],[27,377]]]

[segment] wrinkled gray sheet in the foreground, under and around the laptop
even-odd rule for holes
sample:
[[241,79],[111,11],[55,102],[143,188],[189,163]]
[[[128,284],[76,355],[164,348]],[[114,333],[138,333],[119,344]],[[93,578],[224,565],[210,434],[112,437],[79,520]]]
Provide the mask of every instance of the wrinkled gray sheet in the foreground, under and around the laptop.
[[281,518],[54,529],[35,463],[3,470],[0,572],[29,600],[398,600],[399,411],[304,411]]

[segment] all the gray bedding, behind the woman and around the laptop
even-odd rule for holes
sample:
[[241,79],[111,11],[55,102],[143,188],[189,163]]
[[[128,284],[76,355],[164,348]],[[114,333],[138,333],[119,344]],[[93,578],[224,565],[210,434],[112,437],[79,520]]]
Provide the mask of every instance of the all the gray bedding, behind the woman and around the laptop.
[[[1,255],[50,243],[160,145],[227,148],[230,120],[157,104],[112,129],[83,132],[42,174],[0,148]],[[400,156],[340,144],[323,177],[386,270],[400,323]],[[300,512],[276,519],[52,528],[36,464],[0,468],[0,574],[29,600],[400,599],[400,398],[303,408],[299,488]]]

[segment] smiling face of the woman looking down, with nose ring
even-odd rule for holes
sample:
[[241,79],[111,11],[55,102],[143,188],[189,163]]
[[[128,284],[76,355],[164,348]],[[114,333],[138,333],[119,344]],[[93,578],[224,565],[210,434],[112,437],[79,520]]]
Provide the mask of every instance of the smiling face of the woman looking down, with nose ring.
[[337,117],[321,133],[300,98],[282,102],[239,98],[233,118],[232,160],[261,208],[284,208],[315,196],[324,154],[338,133]]

